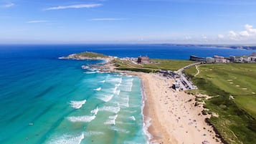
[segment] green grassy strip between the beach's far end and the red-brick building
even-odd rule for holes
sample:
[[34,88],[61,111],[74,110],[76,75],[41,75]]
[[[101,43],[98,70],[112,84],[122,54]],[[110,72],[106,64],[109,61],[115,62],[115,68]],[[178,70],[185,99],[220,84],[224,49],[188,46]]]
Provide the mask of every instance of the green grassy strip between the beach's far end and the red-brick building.
[[175,71],[185,67],[188,64],[194,63],[186,60],[173,59],[151,59],[150,64],[134,64],[133,62],[124,61],[120,59],[113,60],[115,66],[119,70],[130,70],[136,72],[158,72],[160,69]]

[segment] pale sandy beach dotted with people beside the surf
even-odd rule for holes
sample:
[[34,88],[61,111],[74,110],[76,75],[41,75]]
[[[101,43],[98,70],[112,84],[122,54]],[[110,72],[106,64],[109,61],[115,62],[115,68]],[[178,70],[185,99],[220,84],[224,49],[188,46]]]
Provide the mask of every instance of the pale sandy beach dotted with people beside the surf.
[[203,107],[195,107],[195,96],[171,89],[172,80],[159,74],[137,73],[143,82],[145,117],[151,117],[151,143],[221,143],[205,123]]

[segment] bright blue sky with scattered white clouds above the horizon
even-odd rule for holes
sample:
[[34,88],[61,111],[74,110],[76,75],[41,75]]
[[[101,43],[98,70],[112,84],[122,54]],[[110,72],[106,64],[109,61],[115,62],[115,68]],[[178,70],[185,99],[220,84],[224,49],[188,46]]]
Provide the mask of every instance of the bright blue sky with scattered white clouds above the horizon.
[[0,0],[0,44],[256,44],[255,0]]

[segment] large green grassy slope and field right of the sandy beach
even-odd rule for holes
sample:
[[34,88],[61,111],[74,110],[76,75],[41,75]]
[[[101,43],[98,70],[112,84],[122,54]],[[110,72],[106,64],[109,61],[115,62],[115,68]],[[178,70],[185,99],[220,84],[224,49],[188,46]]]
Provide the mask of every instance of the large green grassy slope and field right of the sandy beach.
[[219,117],[210,123],[227,143],[256,143],[256,64],[202,64],[199,71],[184,72],[199,87],[194,92],[214,96],[205,106]]

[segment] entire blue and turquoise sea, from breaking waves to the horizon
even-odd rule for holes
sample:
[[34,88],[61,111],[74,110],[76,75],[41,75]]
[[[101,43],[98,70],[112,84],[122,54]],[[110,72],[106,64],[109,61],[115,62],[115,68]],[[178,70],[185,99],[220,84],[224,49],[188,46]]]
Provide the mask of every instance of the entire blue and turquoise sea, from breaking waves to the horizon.
[[0,45],[0,143],[147,143],[138,77],[82,69],[77,52],[189,59],[252,50],[158,44]]

